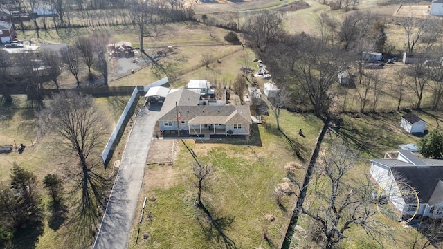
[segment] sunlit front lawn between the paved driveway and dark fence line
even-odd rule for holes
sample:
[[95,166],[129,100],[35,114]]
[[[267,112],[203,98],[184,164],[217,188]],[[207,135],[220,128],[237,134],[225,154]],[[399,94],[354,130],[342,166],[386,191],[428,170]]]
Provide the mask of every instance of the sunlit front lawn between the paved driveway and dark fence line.
[[[284,165],[298,161],[287,142],[287,138],[277,131],[275,118],[265,116],[266,124],[259,124],[253,129],[251,146],[244,140],[229,139],[222,142],[186,141],[201,163],[211,163],[213,174],[204,181],[202,202],[215,219],[220,219],[224,234],[237,248],[273,248],[282,238],[284,224],[291,211],[295,196],[283,199],[283,209],[275,204],[274,188],[284,183],[286,173]],[[314,147],[322,122],[311,114],[289,113],[282,110],[281,127],[291,140],[303,145],[306,155]],[[305,138],[298,135],[299,128],[304,129]],[[280,134],[279,134],[280,133]],[[129,248],[217,248],[224,247],[224,241],[217,233],[208,232],[208,220],[196,209],[197,188],[193,185],[193,159],[186,147],[179,141],[179,151],[172,166],[154,165],[147,167],[145,180],[152,172],[170,172],[174,176],[161,177],[163,187],[144,187],[140,197],[140,206],[145,196],[156,196],[156,201],[147,201],[143,223],[138,220],[141,207],[136,212],[134,230]],[[152,218],[146,218],[147,213]],[[266,215],[275,217],[275,221],[266,220]],[[140,229],[138,242],[136,233]],[[268,231],[270,243],[262,239],[262,231]],[[150,239],[143,239],[149,234]]]

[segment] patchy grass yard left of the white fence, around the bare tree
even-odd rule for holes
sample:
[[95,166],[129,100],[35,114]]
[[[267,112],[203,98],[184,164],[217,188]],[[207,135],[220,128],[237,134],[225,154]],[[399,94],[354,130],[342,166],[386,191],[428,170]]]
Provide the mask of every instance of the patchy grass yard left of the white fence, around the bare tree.
[[[67,164],[72,163],[68,157],[60,157],[60,154],[54,150],[55,145],[52,143],[51,138],[37,137],[37,129],[34,125],[35,122],[35,109],[28,107],[29,102],[26,101],[26,95],[14,96],[12,106],[2,107],[0,109],[0,115],[6,117],[0,121],[1,133],[0,144],[12,144],[14,141],[19,145],[24,143],[26,148],[22,154],[18,152],[12,152],[10,154],[0,154],[0,184],[8,185],[10,169],[13,163],[17,163],[21,167],[28,169],[37,176],[37,182],[39,183],[37,192],[42,196],[42,208],[47,203],[47,193],[42,187],[42,181],[46,174],[57,174],[59,176],[65,176],[67,173]],[[105,136],[103,142],[107,142],[111,131],[116,126],[118,118],[125,108],[129,97],[109,97],[109,98],[97,98],[96,103],[104,114],[107,121],[107,129],[105,130]],[[31,142],[31,140],[33,142]],[[32,146],[34,144],[34,147]],[[104,146],[104,144],[103,144]],[[101,154],[103,146],[98,147],[98,154]],[[118,154],[118,152],[116,152]],[[117,155],[118,156],[118,155]],[[105,172],[103,167],[94,167],[94,172],[105,178],[108,178],[111,174],[111,170]],[[64,181],[64,190],[66,192],[66,204],[71,208],[73,196],[69,191],[71,190],[71,182],[66,179]],[[75,210],[72,210],[75,211]],[[45,216],[49,216],[45,212]],[[33,241],[30,238],[35,239],[33,235],[37,231],[29,231],[26,229],[19,230],[17,238],[12,248],[60,248],[60,245],[65,245],[66,248],[79,248],[80,244],[76,242],[76,237],[73,235],[71,227],[68,224],[68,219],[58,229],[50,228],[47,220],[43,221],[42,228],[39,228],[41,234],[38,235],[37,241]],[[82,237],[82,242],[91,243],[93,234],[90,237]],[[8,247],[11,248],[11,247]]]

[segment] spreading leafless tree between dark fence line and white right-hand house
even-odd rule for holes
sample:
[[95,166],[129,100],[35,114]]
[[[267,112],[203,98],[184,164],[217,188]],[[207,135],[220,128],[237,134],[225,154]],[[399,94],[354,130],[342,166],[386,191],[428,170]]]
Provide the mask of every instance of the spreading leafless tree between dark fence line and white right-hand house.
[[[383,228],[386,226],[374,219],[377,209],[372,203],[374,186],[370,177],[347,178],[358,163],[359,152],[335,139],[330,141],[319,159],[314,169],[319,182],[315,184],[311,202],[305,201],[300,212],[320,226],[324,239],[319,239],[323,242],[322,248],[334,248],[354,225],[379,241],[385,235]],[[295,186],[301,187],[295,175],[288,176]]]

